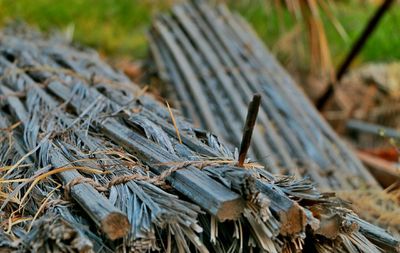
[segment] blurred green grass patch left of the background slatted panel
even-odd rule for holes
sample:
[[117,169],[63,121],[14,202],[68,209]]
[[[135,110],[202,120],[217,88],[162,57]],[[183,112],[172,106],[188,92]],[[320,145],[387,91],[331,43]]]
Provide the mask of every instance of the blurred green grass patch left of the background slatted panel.
[[74,40],[112,56],[143,57],[153,13],[168,6],[151,0],[0,0],[0,25],[22,20],[40,29],[74,27]]

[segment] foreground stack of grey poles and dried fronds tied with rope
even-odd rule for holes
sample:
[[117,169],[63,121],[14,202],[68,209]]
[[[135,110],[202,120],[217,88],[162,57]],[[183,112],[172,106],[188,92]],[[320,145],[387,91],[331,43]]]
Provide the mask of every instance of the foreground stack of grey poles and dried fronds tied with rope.
[[0,250],[400,250],[308,180],[236,166],[96,53],[18,31],[0,34]]

